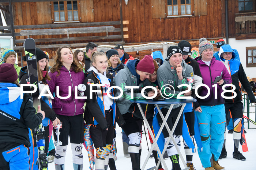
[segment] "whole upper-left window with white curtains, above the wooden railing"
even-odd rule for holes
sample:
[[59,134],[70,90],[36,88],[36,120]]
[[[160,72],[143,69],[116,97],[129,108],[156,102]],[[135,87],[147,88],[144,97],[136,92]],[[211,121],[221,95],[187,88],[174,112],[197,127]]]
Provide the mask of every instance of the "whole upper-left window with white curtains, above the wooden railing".
[[54,21],[78,21],[77,1],[54,1]]

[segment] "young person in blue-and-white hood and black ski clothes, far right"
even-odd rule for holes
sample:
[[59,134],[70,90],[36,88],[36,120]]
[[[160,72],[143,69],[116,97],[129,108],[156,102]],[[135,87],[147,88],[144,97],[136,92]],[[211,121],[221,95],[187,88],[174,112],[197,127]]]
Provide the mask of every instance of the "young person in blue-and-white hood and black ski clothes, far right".
[[[232,84],[236,86],[236,97],[233,99],[225,99],[225,111],[226,111],[226,120],[227,116],[231,113],[233,120],[233,139],[234,139],[234,152],[233,158],[245,161],[245,157],[238,151],[239,142],[241,139],[241,131],[242,131],[242,121],[243,121],[243,103],[241,99],[241,87],[239,86],[239,81],[242,86],[248,93],[249,99],[251,103],[255,103],[255,96],[253,95],[251,86],[246,78],[246,74],[244,72],[244,68],[240,61],[235,59],[235,53],[230,47],[230,45],[223,45],[219,50],[219,58],[225,64],[229,74],[231,75]],[[231,88],[227,88],[227,90],[231,90]],[[227,92],[225,96],[233,96],[234,94],[231,92]],[[224,134],[226,137],[226,133]],[[225,148],[226,139],[224,139],[223,149],[221,151],[222,158],[227,157],[227,151]]]

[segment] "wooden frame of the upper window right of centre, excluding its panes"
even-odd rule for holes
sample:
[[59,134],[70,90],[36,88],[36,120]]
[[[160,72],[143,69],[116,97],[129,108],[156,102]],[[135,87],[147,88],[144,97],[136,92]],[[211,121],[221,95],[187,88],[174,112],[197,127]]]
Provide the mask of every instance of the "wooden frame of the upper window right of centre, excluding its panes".
[[[185,0],[185,4],[182,4],[182,5],[185,5],[185,11],[186,11],[186,14],[181,14],[181,3],[180,3],[181,0],[177,0],[177,5],[173,5],[173,0],[172,0],[172,5],[168,5],[168,0],[165,0],[165,11],[166,11],[166,17],[182,17],[182,16],[193,16],[193,11],[194,11],[194,0],[190,0],[190,10],[191,10],[191,13],[190,14],[187,14],[187,0]],[[168,15],[168,6],[178,6],[178,15]],[[172,10],[173,12],[173,10]]]

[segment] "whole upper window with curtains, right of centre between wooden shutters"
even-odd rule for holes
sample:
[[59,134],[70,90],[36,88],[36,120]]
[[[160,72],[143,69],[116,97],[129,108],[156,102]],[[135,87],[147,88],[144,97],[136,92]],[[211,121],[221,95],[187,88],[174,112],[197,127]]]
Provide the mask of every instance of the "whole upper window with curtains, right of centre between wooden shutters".
[[167,0],[167,15],[191,15],[191,0]]

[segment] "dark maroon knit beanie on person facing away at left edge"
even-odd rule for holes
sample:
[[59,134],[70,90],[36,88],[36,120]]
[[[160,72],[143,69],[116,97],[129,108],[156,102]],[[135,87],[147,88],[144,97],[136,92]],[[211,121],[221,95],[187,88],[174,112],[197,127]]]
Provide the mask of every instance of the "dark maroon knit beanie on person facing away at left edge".
[[3,63],[0,65],[0,82],[13,83],[17,79],[18,79],[18,74],[13,64]]

